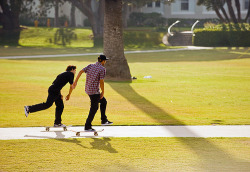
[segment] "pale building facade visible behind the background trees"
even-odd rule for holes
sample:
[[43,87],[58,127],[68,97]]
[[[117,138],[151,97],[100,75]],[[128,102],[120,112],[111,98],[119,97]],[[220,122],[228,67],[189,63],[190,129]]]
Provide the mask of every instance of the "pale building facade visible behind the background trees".
[[[39,0],[37,0],[39,2]],[[248,4],[250,0],[240,0],[241,4],[241,16],[245,18],[248,12]],[[95,8],[95,3],[92,6]],[[224,7],[227,11],[227,5]],[[233,3],[233,8],[236,13],[236,7]],[[164,4],[161,0],[147,3],[143,7],[129,7],[127,8],[127,19],[129,14],[132,12],[142,12],[142,13],[160,13],[162,17],[167,19],[170,18],[181,18],[181,19],[211,19],[218,18],[214,11],[208,11],[205,6],[198,6],[197,0],[175,0],[173,3]],[[70,22],[71,15],[71,3],[66,2],[59,6],[59,17],[66,16]],[[49,10],[47,16],[49,18],[55,17],[55,9]],[[87,19],[85,15],[82,14],[77,8],[75,9],[75,23],[77,27],[84,26],[84,20]],[[248,19],[249,22],[249,19]]]

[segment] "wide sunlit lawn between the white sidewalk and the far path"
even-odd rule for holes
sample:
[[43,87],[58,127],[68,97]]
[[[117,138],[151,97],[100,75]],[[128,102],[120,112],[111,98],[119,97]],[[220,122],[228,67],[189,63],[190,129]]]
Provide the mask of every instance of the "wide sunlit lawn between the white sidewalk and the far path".
[[[106,81],[107,115],[115,125],[250,124],[249,51],[201,50],[126,55],[132,83]],[[0,127],[53,124],[54,108],[24,117],[24,105],[44,102],[67,65],[79,71],[96,56],[0,60]],[[144,79],[150,75],[151,79]],[[89,97],[81,78],[63,123],[84,125]],[[66,96],[67,85],[62,93]],[[100,125],[97,113],[94,125]]]

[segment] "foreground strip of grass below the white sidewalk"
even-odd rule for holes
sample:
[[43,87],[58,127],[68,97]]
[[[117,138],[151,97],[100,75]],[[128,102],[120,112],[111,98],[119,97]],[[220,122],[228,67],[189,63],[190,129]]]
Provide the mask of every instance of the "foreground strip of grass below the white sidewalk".
[[248,171],[249,138],[0,141],[1,171]]

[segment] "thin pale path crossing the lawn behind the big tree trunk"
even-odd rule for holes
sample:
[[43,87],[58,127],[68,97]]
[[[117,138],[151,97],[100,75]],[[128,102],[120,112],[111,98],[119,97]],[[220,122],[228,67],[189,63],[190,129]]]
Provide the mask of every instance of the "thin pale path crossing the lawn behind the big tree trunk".
[[[176,48],[176,49],[163,49],[163,50],[144,50],[144,51],[125,51],[125,54],[133,53],[153,53],[153,52],[166,52],[166,51],[183,51],[183,50],[202,50],[202,49],[212,49],[211,47],[196,47],[196,46],[187,46],[185,48]],[[76,57],[76,56],[90,56],[90,55],[100,55],[100,53],[83,53],[83,54],[55,54],[55,55],[32,55],[32,56],[5,56],[0,59],[22,59],[22,58],[46,58],[46,57]]]

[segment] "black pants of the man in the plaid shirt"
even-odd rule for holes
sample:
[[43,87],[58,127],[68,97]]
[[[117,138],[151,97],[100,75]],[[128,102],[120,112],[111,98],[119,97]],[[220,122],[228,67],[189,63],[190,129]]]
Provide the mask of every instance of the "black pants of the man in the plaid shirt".
[[106,107],[107,107],[107,101],[105,97],[100,99],[100,94],[94,94],[94,95],[89,95],[90,98],[90,110],[89,110],[89,116],[86,120],[85,123],[85,129],[90,129],[92,127],[92,121],[95,117],[95,114],[98,110],[98,106],[100,103],[100,110],[101,110],[101,120],[102,122],[107,121],[107,116],[106,116]]

